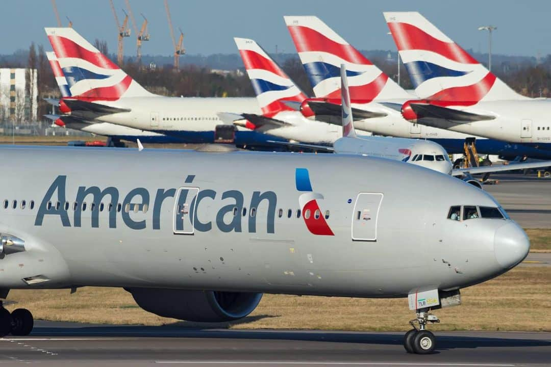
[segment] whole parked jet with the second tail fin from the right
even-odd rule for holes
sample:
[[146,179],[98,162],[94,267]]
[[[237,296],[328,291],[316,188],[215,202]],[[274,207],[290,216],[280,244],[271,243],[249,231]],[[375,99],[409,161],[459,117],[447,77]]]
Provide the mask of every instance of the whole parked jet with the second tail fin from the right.
[[[483,154],[494,154],[508,160],[524,155],[551,159],[549,151],[534,146],[410,123],[402,117],[401,108],[404,102],[416,97],[388,78],[319,18],[284,18],[316,95],[316,98],[306,100],[300,106],[306,117],[316,116],[316,119],[320,119],[322,117],[317,116],[317,112],[320,112],[331,114],[333,123],[341,123],[341,108],[338,106],[339,65],[344,63],[350,78],[352,106],[356,108],[353,110],[354,116],[360,118],[354,121],[356,128],[380,135],[430,139],[450,154],[463,153],[466,139],[476,138],[476,147]],[[333,107],[330,108],[331,105]],[[357,110],[364,110],[367,115],[361,116]]]

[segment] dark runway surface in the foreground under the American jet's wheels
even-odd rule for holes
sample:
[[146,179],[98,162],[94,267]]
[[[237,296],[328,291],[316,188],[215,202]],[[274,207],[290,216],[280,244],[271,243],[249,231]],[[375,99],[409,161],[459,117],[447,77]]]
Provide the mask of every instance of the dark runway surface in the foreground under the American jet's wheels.
[[441,332],[436,353],[407,354],[402,332],[188,330],[37,321],[0,339],[0,365],[537,366],[551,333]]

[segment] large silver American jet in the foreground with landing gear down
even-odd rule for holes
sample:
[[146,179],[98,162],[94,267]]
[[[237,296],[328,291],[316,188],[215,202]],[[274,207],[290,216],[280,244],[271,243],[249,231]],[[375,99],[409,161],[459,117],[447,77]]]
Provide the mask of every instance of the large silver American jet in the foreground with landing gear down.
[[[436,345],[430,310],[460,304],[461,288],[506,272],[530,248],[490,195],[382,158],[0,151],[0,168],[18,180],[0,183],[4,299],[9,289],[124,287],[157,315],[228,321],[266,292],[408,297],[420,330],[404,346],[424,354]],[[2,336],[32,327],[28,310],[0,308]]]

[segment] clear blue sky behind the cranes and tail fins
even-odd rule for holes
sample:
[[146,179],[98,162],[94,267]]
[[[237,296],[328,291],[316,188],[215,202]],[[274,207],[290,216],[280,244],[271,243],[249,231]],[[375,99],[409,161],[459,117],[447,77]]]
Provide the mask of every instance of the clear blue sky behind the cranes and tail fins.
[[[63,25],[66,16],[85,38],[106,40],[110,52],[117,48],[117,30],[109,0],[57,0]],[[122,21],[125,1],[114,0]],[[172,54],[172,41],[163,1],[130,0],[139,24],[149,20],[151,41],[144,42],[144,54]],[[360,50],[395,50],[382,17],[383,11],[417,10],[464,48],[488,51],[487,32],[480,25],[498,26],[493,52],[522,56],[551,53],[551,1],[512,0],[169,0],[175,31],[181,27],[184,46],[190,54],[233,53],[233,37],[255,39],[268,52],[276,45],[280,52],[295,52],[283,15],[317,15]],[[52,5],[47,0],[4,0],[0,3],[0,54],[28,48],[31,41],[50,50],[43,28],[56,26]],[[176,34],[177,37],[177,34]],[[135,38],[125,39],[125,54],[136,53]]]

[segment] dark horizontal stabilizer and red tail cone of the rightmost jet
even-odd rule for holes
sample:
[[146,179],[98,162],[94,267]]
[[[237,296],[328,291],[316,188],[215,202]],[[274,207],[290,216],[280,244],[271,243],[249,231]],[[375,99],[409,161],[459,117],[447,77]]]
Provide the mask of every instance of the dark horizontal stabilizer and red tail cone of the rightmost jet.
[[[410,109],[410,111],[407,111]],[[418,123],[441,129],[455,127],[474,121],[493,120],[495,116],[487,116],[472,112],[460,111],[458,109],[440,107],[430,103],[406,102],[402,114],[407,120],[412,114]]]

